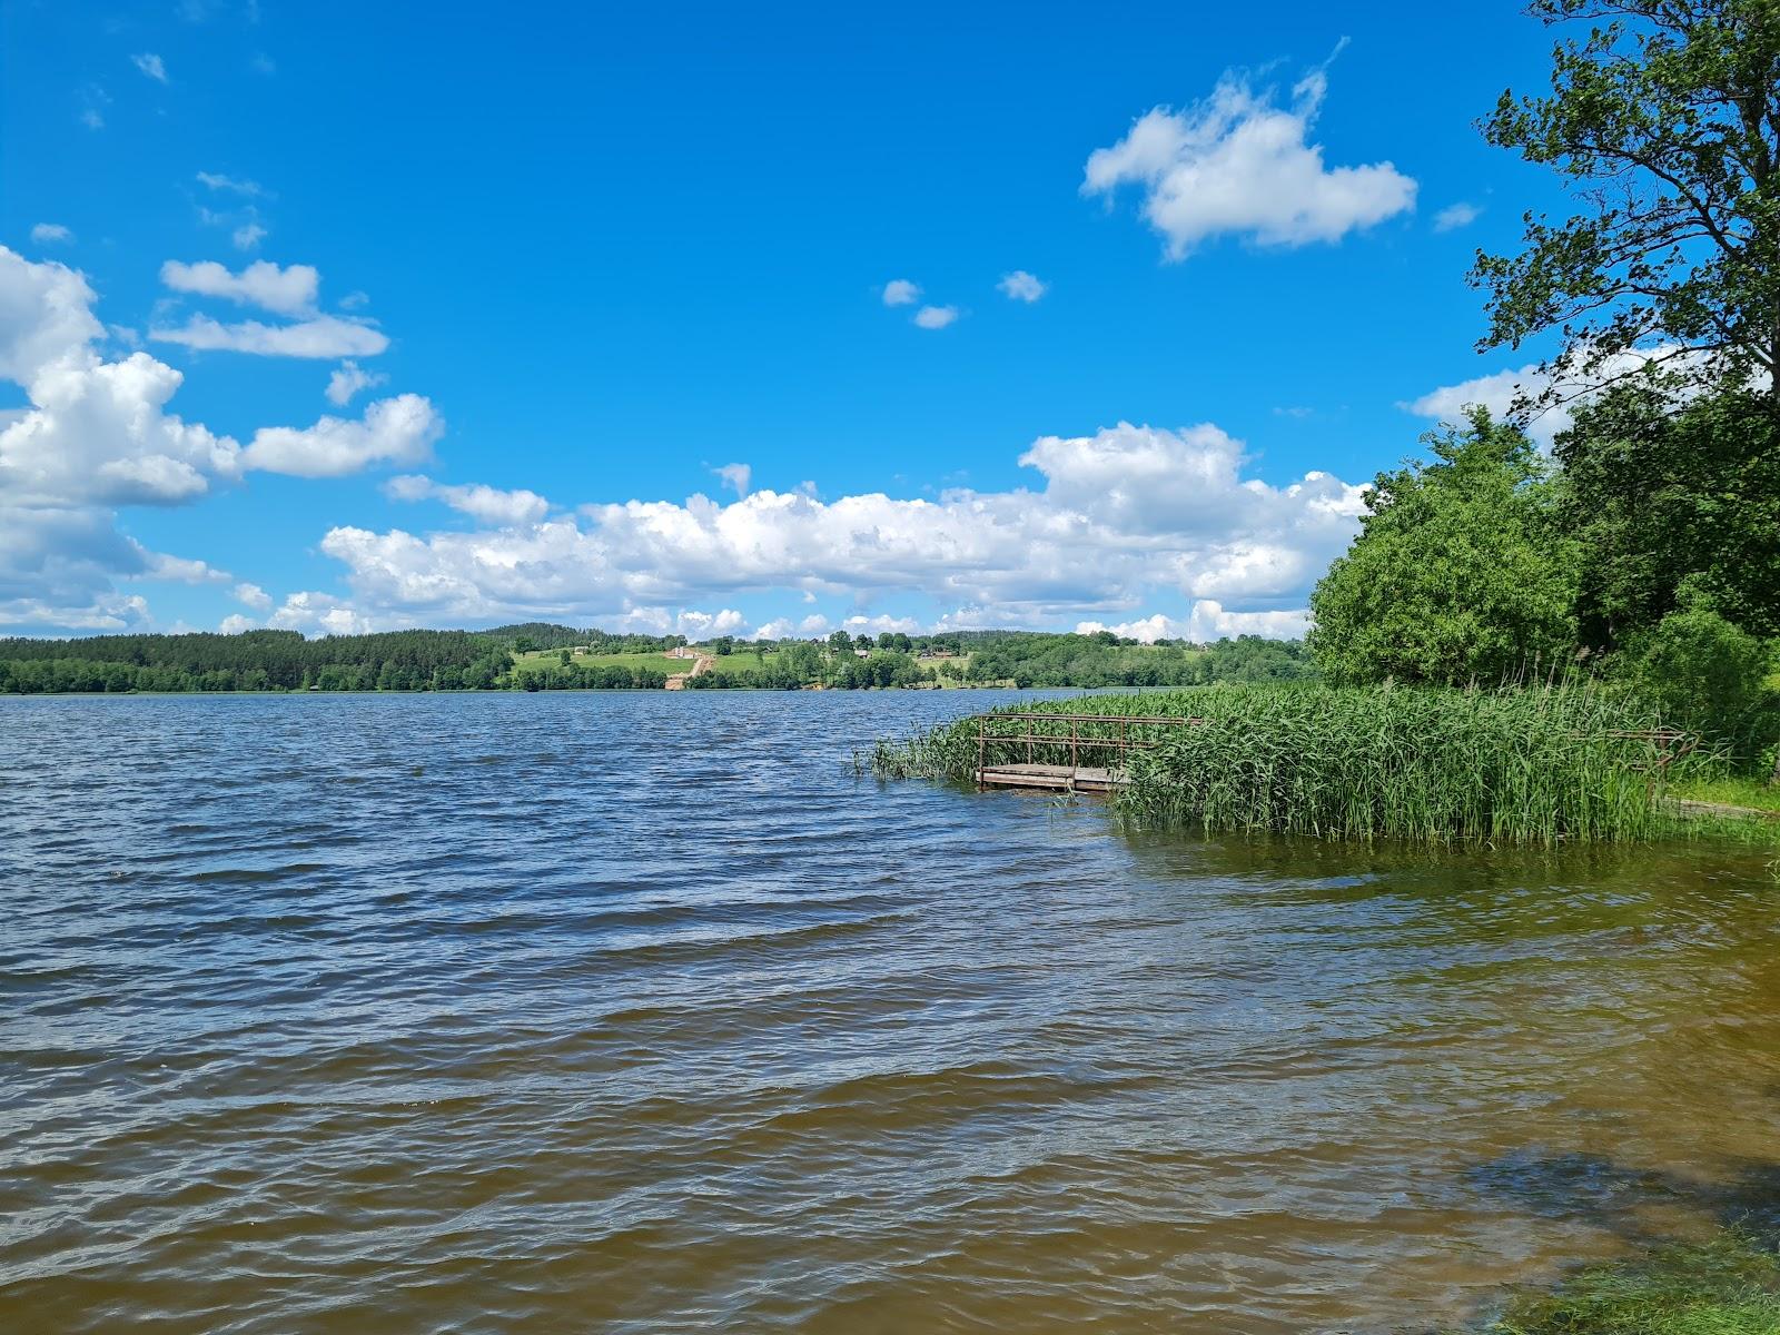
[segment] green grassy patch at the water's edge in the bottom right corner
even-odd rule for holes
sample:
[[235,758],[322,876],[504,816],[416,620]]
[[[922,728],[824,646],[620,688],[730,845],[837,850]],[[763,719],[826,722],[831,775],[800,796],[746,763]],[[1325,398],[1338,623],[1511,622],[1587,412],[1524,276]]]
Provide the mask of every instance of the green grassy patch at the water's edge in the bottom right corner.
[[1591,1266],[1550,1294],[1524,1294],[1490,1335],[1775,1335],[1780,1260],[1748,1234]]

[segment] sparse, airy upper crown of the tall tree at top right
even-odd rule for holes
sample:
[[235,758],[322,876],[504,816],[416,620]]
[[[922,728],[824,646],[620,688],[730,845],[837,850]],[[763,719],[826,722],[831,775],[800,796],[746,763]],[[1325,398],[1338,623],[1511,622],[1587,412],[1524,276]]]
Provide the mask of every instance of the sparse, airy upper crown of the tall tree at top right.
[[1780,415],[1780,2],[1534,0],[1588,23],[1552,91],[1504,93],[1490,142],[1554,167],[1584,212],[1525,217],[1525,249],[1477,255],[1481,347],[1561,331],[1565,397],[1655,356],[1695,384],[1762,386]]

